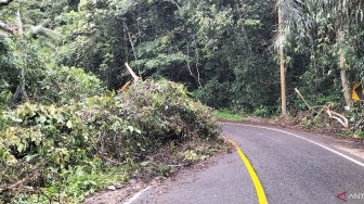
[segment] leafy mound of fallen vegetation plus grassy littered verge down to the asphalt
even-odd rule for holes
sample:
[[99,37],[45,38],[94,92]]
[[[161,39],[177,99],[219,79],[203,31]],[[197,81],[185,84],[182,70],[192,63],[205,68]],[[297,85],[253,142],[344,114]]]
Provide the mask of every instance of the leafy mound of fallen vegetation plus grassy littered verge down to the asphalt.
[[[73,91],[69,89],[69,91]],[[182,85],[26,102],[0,114],[0,203],[80,203],[130,178],[168,177],[223,148],[212,111]]]

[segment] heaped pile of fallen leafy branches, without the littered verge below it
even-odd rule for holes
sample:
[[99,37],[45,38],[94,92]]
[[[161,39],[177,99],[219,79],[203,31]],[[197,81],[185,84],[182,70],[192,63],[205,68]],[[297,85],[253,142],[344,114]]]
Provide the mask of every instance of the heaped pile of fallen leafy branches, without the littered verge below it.
[[182,85],[139,81],[77,104],[24,103],[0,115],[0,197],[50,187],[75,166],[141,162],[171,142],[211,141],[221,128]]

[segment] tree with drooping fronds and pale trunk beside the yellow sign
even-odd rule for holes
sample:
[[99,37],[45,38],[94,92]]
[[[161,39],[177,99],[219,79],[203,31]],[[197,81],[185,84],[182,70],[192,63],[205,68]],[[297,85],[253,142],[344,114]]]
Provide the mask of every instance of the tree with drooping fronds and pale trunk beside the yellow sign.
[[[352,47],[350,42],[358,34],[352,34],[352,27],[358,26],[358,23],[363,18],[362,1],[346,1],[346,0],[280,0],[278,4],[285,11],[284,22],[285,29],[296,26],[299,29],[304,29],[308,38],[312,30],[317,29],[321,22],[333,29],[336,41],[338,67],[340,71],[340,80],[346,105],[350,105],[350,80],[348,78],[348,63],[346,61],[347,50]],[[292,25],[295,24],[295,26]],[[301,33],[302,34],[302,33]]]

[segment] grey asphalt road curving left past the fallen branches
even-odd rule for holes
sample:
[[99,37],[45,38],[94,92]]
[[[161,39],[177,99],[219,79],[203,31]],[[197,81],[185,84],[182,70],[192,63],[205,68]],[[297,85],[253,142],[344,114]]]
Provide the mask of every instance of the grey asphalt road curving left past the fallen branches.
[[[225,124],[223,133],[248,158],[268,203],[364,204],[362,144],[250,125]],[[173,180],[155,184],[127,203],[259,203],[252,180],[240,155],[234,152],[214,158],[213,164],[184,170]]]

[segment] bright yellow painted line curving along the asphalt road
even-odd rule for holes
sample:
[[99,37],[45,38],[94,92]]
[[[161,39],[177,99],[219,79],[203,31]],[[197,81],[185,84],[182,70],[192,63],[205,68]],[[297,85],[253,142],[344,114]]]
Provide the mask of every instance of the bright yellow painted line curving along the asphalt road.
[[256,188],[259,204],[268,204],[266,196],[265,196],[265,193],[264,193],[264,189],[263,189],[255,169],[252,168],[251,164],[249,163],[248,158],[245,156],[243,151],[238,148],[238,145],[233,140],[230,139],[230,142],[235,146],[235,149],[237,150],[237,153],[240,155],[242,161],[244,162],[245,166],[248,169],[248,173],[250,175],[252,183]]

